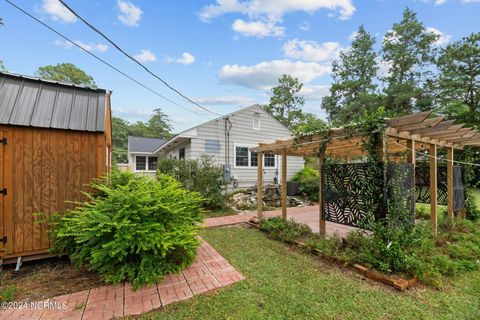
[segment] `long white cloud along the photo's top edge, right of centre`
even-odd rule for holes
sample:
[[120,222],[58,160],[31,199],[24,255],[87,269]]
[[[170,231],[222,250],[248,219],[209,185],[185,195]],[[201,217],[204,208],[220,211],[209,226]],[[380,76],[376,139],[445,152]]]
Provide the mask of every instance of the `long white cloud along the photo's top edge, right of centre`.
[[216,0],[215,4],[203,7],[200,18],[208,21],[226,13],[241,13],[250,17],[281,19],[287,13],[314,13],[320,9],[338,12],[340,19],[350,18],[356,10],[351,0]]

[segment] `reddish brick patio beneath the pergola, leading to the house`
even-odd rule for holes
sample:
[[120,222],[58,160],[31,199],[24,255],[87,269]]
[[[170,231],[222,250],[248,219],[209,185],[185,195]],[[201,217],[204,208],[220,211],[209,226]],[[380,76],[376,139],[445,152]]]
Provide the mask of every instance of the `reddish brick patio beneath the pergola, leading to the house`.
[[[316,206],[305,206],[305,207],[294,207],[287,209],[287,217],[288,219],[293,219],[300,223],[307,224],[313,232],[317,232],[319,230],[319,216],[318,216],[318,205]],[[205,220],[204,227],[220,227],[220,226],[228,226],[234,225],[237,223],[244,223],[248,222],[250,218],[256,216],[257,213],[253,211],[248,211],[244,214],[232,215],[232,216],[225,216],[225,217],[217,217],[217,218],[208,218]],[[265,211],[263,212],[264,217],[275,217],[281,216],[282,209],[274,210],[274,211]],[[354,230],[355,228],[345,226],[342,224],[337,224],[333,222],[326,222],[327,226],[327,234],[333,235],[338,234],[340,237],[344,237],[350,231]]]

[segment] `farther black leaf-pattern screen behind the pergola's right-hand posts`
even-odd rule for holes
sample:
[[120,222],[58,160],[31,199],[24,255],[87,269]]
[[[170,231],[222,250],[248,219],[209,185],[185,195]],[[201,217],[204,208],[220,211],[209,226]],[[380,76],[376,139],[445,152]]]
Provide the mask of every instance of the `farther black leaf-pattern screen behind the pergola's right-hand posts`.
[[[416,202],[430,203],[430,166],[419,163],[415,168]],[[447,166],[437,168],[437,204],[448,204]],[[460,165],[453,166],[453,210],[465,207],[465,170]]]

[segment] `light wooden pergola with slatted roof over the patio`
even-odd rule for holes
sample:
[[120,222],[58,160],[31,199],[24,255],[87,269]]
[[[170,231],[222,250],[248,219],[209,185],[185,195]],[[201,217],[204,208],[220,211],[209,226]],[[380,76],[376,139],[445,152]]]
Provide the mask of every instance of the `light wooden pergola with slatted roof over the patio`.
[[[437,149],[447,151],[447,211],[448,217],[454,217],[453,155],[454,150],[465,146],[480,146],[480,133],[464,124],[455,124],[454,120],[431,116],[431,111],[421,112],[397,118],[385,119],[383,141],[377,146],[377,155],[383,163],[388,160],[405,161],[415,168],[416,151],[428,150],[430,163],[430,219],[434,232],[437,230]],[[282,218],[287,219],[287,156],[318,156],[321,167],[325,157],[342,159],[364,156],[362,144],[365,133],[349,132],[347,128],[333,128],[324,132],[305,135],[273,143],[261,143],[258,148],[259,159],[265,153],[281,156],[282,161]],[[415,177],[414,177],[415,179]],[[323,191],[321,177],[319,181],[319,230],[325,236],[326,226],[323,218]],[[258,161],[258,208],[257,216],[263,216],[263,161]]]

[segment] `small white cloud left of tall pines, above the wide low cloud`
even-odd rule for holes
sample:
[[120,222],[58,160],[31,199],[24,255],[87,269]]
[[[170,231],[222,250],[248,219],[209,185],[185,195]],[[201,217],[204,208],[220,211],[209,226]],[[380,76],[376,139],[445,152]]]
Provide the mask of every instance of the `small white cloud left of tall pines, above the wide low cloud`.
[[316,62],[330,62],[338,57],[341,50],[338,42],[318,43],[293,39],[283,45],[286,57]]

